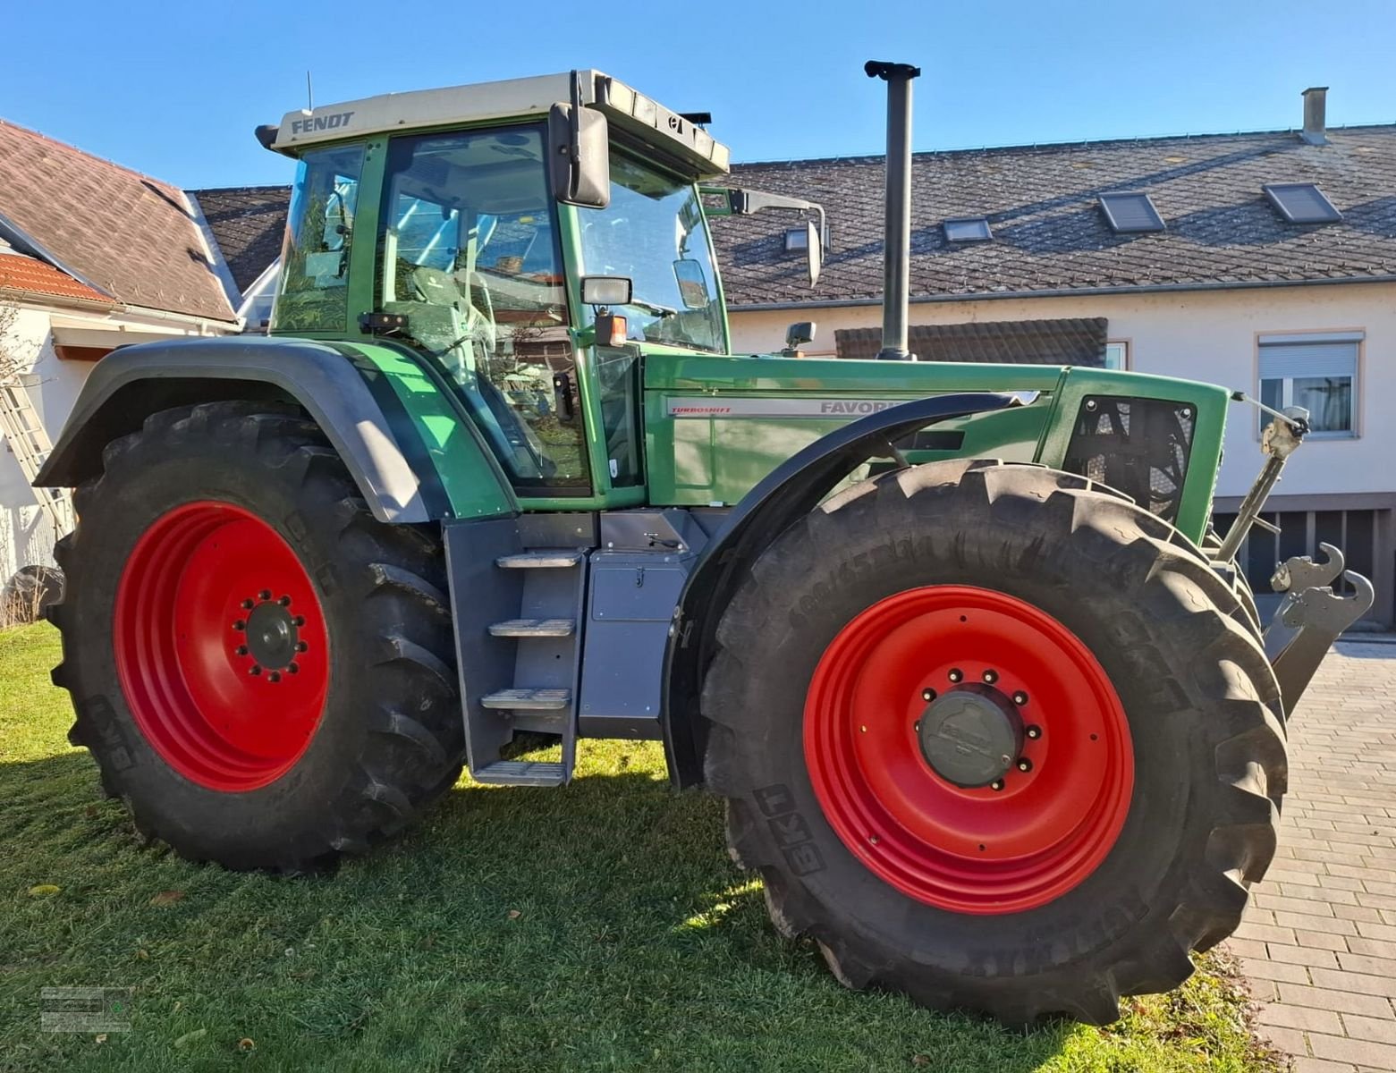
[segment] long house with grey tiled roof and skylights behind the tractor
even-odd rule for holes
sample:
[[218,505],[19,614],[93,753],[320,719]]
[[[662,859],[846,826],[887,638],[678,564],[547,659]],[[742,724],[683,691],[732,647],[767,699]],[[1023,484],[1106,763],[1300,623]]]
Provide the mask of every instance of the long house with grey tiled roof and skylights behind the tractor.
[[[1295,130],[916,153],[910,343],[921,360],[1113,366],[1307,406],[1316,431],[1270,498],[1282,534],[1254,530],[1248,573],[1263,592],[1276,558],[1337,544],[1390,622],[1396,126],[1328,128],[1325,91],[1304,103]],[[818,201],[828,222],[811,287],[803,222],[712,220],[734,350],[769,353],[790,322],[815,321],[805,354],[872,357],[884,158],[738,163],[732,177]],[[230,260],[258,251],[244,278],[271,264],[285,188],[197,197]],[[1261,421],[1233,412],[1222,512],[1259,470]]]

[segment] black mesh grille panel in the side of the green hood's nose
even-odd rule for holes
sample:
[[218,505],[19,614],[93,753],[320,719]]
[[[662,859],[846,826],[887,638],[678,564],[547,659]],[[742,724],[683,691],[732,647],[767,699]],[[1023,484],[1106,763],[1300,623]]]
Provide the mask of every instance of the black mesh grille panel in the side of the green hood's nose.
[[1062,469],[1178,518],[1196,412],[1189,403],[1108,395],[1082,400]]

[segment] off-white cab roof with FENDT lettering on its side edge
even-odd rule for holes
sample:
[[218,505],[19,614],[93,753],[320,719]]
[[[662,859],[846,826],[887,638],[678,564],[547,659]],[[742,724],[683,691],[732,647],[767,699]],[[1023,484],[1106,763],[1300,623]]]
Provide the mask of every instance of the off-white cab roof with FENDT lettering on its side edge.
[[364,134],[528,117],[542,120],[553,105],[570,102],[574,89],[584,106],[603,113],[630,138],[662,149],[695,179],[727,172],[730,152],[706,130],[620,80],[591,68],[445,89],[380,93],[362,100],[300,109],[288,112],[278,127],[260,128],[258,140],[268,149],[299,156],[306,147]]

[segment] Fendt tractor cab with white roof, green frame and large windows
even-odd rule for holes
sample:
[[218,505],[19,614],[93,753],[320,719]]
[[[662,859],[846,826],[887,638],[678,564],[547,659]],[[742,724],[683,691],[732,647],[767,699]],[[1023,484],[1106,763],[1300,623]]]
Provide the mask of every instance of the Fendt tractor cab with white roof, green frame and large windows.
[[729,349],[704,198],[817,211],[701,190],[727,149],[695,119],[591,70],[288,114],[272,333],[409,346],[518,495],[625,504],[641,357]]

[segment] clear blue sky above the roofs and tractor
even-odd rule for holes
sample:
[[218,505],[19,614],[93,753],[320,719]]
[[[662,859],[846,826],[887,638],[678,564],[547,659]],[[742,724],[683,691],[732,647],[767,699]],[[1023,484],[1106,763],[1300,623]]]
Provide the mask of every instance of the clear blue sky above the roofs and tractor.
[[[867,59],[916,63],[916,148],[1396,121],[1393,0],[11,3],[0,116],[184,187],[281,183],[302,107],[599,67],[709,110],[734,159],[878,152]],[[24,47],[14,47],[22,42]]]

